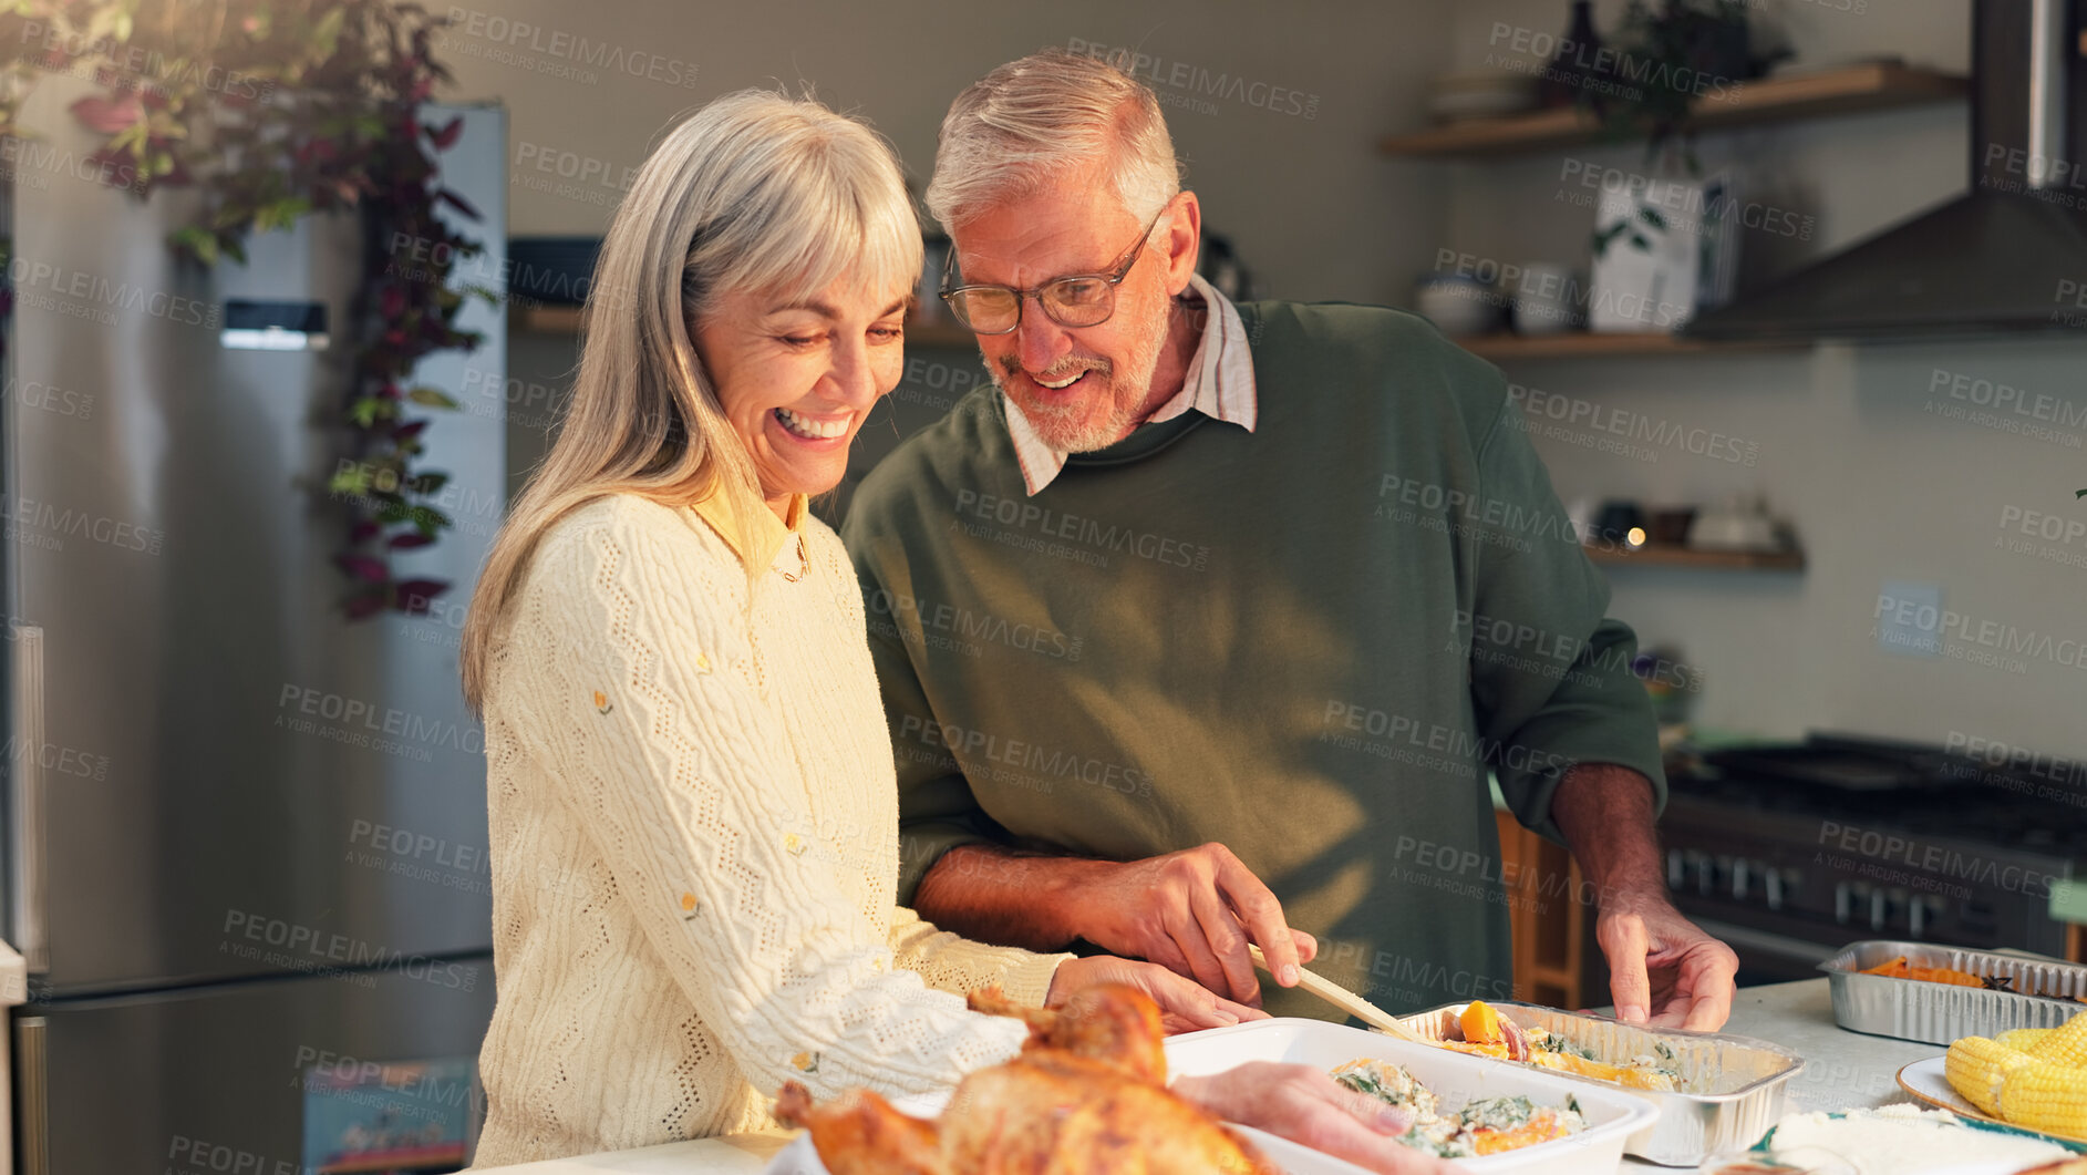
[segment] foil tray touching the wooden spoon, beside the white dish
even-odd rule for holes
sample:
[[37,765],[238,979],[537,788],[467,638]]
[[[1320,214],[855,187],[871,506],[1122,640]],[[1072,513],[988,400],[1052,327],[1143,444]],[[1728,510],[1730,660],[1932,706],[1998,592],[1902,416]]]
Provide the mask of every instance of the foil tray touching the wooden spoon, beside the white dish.
[[[1782,1119],[1791,1077],[1797,1077],[1805,1066],[1805,1060],[1795,1052],[1753,1037],[1655,1031],[1607,1016],[1582,1016],[1534,1004],[1494,1000],[1488,1004],[1524,1029],[1540,1027],[1559,1039],[1592,1050],[1609,1064],[1657,1054],[1663,1046],[1674,1056],[1674,1069],[1680,1073],[1686,1094],[1628,1089],[1613,1081],[1530,1064],[1530,1069],[1569,1081],[1626,1089],[1659,1106],[1659,1121],[1653,1129],[1628,1140],[1624,1152],[1663,1167],[1697,1167],[1713,1154],[1753,1146],[1768,1133],[1768,1127]],[[1463,1010],[1465,1004],[1448,1004],[1405,1016],[1402,1023],[1428,1039],[1453,1039]]]

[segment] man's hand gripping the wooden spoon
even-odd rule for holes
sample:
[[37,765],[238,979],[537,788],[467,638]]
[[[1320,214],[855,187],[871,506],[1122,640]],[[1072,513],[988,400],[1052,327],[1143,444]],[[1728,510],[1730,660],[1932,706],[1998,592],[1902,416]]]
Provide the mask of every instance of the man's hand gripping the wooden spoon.
[[1069,906],[1094,945],[1148,958],[1240,1004],[1261,1006],[1246,943],[1261,943],[1275,983],[1294,987],[1319,943],[1284,925],[1284,906],[1231,849],[1208,843],[1125,864],[1092,862]]

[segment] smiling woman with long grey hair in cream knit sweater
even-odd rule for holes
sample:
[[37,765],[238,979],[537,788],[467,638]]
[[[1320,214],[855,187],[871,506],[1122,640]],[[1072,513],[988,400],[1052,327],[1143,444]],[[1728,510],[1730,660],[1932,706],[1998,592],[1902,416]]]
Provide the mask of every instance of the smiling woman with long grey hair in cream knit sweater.
[[499,977],[480,1165],[762,1127],[787,1079],[954,1083],[1023,1037],[964,1010],[989,983],[1135,983],[1177,1029],[1261,1014],[895,906],[862,597],[806,499],[897,384],[918,271],[891,152],[760,92],[674,127],[603,240],[572,407],[465,628]]

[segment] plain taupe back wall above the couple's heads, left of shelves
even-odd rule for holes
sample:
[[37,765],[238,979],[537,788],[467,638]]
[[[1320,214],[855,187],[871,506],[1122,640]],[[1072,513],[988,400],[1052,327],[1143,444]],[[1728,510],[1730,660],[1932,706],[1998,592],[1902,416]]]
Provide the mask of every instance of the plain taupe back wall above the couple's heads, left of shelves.
[[[1415,225],[1440,217],[1432,173],[1377,157],[1371,142],[1394,113],[1417,106],[1446,50],[1442,4],[472,0],[457,8],[465,23],[442,48],[455,96],[501,98],[513,113],[515,236],[599,234],[616,177],[645,159],[653,138],[676,115],[745,86],[816,83],[829,104],[874,121],[920,188],[958,90],[1002,61],[1075,40],[1154,61],[1144,73],[1162,79],[1154,90],[1169,100],[1206,223],[1229,234],[1279,294],[1384,301],[1402,286],[1396,275],[1425,265],[1428,234]],[[499,61],[511,21],[545,31],[513,46],[522,61]],[[555,77],[580,50],[549,52],[553,33],[626,50],[626,63],[639,50],[662,54],[666,81],[601,67],[595,83]],[[676,75],[695,83],[670,83]],[[1177,77],[1183,83],[1171,83]],[[1210,88],[1221,94],[1206,98]],[[1290,113],[1313,96],[1313,117]],[[599,161],[609,179],[545,190],[561,179],[541,171],[543,161],[568,169]]]

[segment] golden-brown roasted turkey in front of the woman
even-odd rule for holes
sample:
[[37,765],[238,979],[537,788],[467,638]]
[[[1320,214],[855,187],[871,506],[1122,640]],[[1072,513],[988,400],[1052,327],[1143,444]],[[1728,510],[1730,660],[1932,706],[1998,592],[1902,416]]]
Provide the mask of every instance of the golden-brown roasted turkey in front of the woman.
[[776,1119],[810,1129],[833,1175],[1279,1175],[1167,1089],[1160,1010],[1144,991],[1102,985],[1046,1010],[987,987],[970,1008],[1021,1018],[1029,1041],[1014,1060],[966,1075],[941,1119],[902,1114],[870,1089],[814,1106],[795,1081]]

